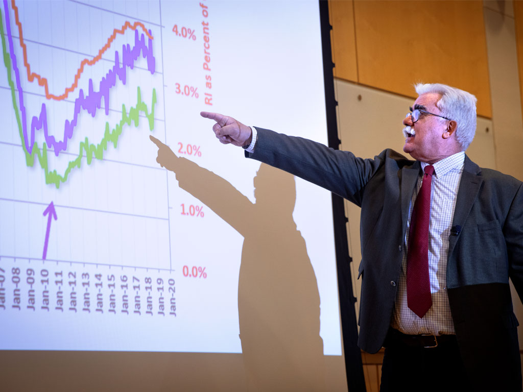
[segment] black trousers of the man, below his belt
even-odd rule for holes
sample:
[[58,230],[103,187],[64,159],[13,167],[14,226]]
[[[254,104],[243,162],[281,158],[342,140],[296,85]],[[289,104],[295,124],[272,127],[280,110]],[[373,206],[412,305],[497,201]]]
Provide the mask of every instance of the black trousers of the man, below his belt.
[[[437,339],[437,338],[436,338]],[[454,337],[433,345],[391,330],[385,340],[380,392],[472,390]],[[431,341],[430,341],[431,342]]]

